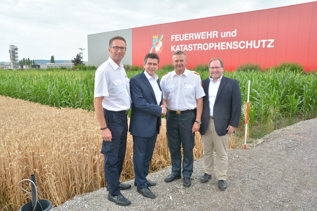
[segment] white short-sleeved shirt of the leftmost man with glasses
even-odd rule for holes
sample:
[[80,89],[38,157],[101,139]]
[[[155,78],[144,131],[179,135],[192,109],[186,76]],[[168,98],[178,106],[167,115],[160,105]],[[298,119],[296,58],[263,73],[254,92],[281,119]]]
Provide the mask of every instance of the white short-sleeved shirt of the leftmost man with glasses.
[[104,97],[103,107],[109,111],[129,110],[130,80],[123,64],[118,66],[110,57],[96,70],[94,97]]

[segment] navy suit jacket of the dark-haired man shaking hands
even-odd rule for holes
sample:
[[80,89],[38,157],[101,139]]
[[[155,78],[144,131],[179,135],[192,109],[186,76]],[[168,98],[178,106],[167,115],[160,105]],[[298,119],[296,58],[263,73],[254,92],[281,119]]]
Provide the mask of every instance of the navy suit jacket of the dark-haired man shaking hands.
[[[157,81],[159,84],[159,80]],[[159,89],[161,89],[159,85]],[[144,71],[130,80],[132,98],[129,131],[131,135],[151,137],[155,131],[159,133],[161,123],[162,98],[157,103],[154,90]]]

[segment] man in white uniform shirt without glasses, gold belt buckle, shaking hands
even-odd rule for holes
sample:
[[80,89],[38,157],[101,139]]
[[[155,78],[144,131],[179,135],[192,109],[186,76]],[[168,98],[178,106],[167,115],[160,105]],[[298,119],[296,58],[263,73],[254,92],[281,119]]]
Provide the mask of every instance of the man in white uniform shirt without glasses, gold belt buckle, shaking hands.
[[[199,131],[205,92],[197,72],[186,69],[186,54],[173,53],[175,70],[163,75],[161,87],[166,114],[167,144],[170,150],[172,172],[164,181],[172,182],[183,174],[183,185],[191,186],[195,132]],[[181,147],[183,148],[183,164]]]

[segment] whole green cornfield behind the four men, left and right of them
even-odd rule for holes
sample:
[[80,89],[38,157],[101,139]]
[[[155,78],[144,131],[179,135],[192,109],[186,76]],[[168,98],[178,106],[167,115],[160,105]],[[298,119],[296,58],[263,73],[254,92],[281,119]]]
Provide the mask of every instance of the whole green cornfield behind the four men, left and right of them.
[[[128,78],[141,71],[127,72]],[[159,70],[159,78],[168,70]],[[202,80],[209,77],[207,70],[198,70]],[[0,95],[24,99],[57,108],[94,110],[94,71],[0,71]],[[305,119],[317,115],[317,75],[290,71],[289,68],[271,68],[267,71],[224,72],[224,76],[239,81],[242,102],[250,90],[250,122],[262,125],[281,117]],[[241,122],[245,117],[241,116]]]

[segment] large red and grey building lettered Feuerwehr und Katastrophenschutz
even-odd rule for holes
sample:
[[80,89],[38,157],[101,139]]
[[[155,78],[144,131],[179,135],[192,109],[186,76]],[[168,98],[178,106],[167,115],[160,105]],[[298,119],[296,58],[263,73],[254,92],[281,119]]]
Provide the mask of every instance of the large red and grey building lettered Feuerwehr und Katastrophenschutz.
[[171,64],[174,51],[183,50],[189,69],[217,57],[226,70],[283,62],[317,69],[317,1],[88,35],[89,65],[107,60],[108,41],[117,35],[127,42],[123,64],[142,65],[145,54],[156,52],[161,67]]

